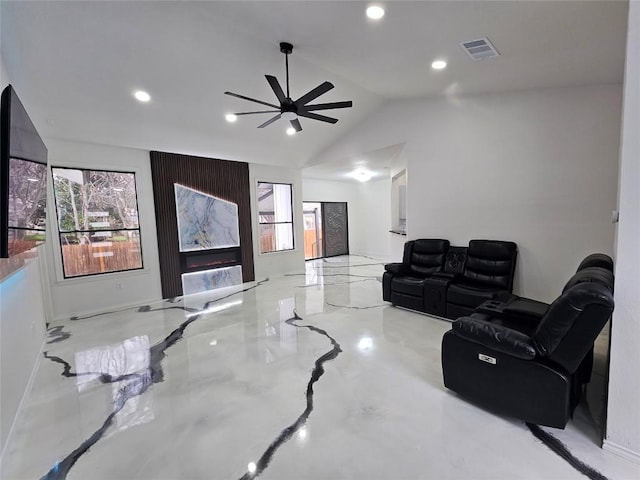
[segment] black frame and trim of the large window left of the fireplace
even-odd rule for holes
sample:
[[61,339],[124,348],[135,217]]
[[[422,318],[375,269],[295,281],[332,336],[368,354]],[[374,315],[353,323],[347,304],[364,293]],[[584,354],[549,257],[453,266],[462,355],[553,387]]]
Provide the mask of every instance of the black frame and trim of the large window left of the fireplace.
[[[68,230],[68,231],[62,231],[60,230],[60,219],[58,218],[58,198],[56,197],[56,189],[55,189],[55,179],[54,179],[54,173],[53,170],[54,169],[61,169],[61,170],[79,170],[79,171],[88,171],[88,172],[107,172],[107,173],[125,173],[125,174],[130,174],[133,175],[133,184],[134,184],[134,189],[135,189],[135,199],[136,199],[136,216],[137,216],[137,223],[138,223],[138,227],[137,228],[116,228],[116,229],[107,229],[107,228],[101,228],[101,229],[96,229],[96,230]],[[73,167],[73,166],[60,166],[60,165],[50,165],[50,170],[51,170],[51,192],[52,192],[52,197],[53,197],[53,208],[55,210],[55,215],[52,216],[52,218],[55,218],[55,223],[56,223],[56,241],[58,243],[58,254],[59,254],[59,262],[56,262],[56,266],[59,267],[59,270],[56,268],[56,270],[58,270],[61,274],[62,274],[62,280],[64,281],[73,281],[73,280],[77,280],[77,281],[82,281],[83,279],[87,279],[89,277],[99,277],[101,275],[113,275],[113,274],[119,274],[119,273],[131,273],[131,272],[139,272],[139,271],[144,271],[145,269],[145,265],[144,265],[144,249],[143,249],[143,241],[142,241],[142,226],[141,226],[141,222],[140,222],[140,202],[138,201],[139,197],[138,197],[138,180],[137,180],[137,174],[138,172],[135,170],[120,170],[117,168],[86,168],[86,167]],[[126,269],[122,269],[122,270],[111,270],[108,272],[95,272],[95,273],[86,273],[83,275],[67,275],[67,272],[65,270],[65,265],[64,265],[64,253],[63,253],[63,243],[61,241],[61,236],[64,234],[68,234],[68,233],[89,233],[89,232],[122,232],[122,231],[130,231],[130,232],[138,232],[138,243],[139,243],[139,247],[140,247],[140,266],[139,267],[135,267],[135,268],[126,268]],[[58,277],[60,279],[60,277]]]

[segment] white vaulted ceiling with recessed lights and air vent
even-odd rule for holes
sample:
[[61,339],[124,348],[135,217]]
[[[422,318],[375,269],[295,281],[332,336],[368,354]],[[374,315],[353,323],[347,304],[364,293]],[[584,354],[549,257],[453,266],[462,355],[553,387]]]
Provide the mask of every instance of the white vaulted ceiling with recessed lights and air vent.
[[[2,57],[45,137],[285,166],[309,163],[385,101],[622,82],[626,1],[379,3],[386,15],[373,22],[358,1],[2,0]],[[483,36],[501,56],[474,62],[459,43]],[[264,75],[284,84],[281,41],[294,45],[293,98],[328,80],[318,102],[353,100],[321,112],[337,124],[302,119],[288,137],[282,120],[224,120],[260,107],[226,90],[275,100]],[[435,58],[448,68],[433,71]],[[149,104],[133,100],[138,88]],[[343,179],[366,160],[305,175]]]

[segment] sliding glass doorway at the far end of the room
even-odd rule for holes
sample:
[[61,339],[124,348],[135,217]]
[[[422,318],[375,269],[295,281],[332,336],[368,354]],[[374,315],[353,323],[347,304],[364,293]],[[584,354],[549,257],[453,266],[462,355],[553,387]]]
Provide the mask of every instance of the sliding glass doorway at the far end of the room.
[[303,202],[304,259],[349,253],[346,202]]

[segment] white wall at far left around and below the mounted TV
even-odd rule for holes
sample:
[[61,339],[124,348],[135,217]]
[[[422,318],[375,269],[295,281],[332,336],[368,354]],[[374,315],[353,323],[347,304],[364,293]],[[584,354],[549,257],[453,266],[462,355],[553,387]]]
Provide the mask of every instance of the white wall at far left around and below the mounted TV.
[[[0,87],[4,89],[9,83],[0,57]],[[29,105],[25,109],[28,112]],[[37,258],[0,280],[0,452],[4,451],[20,402],[29,390],[45,336],[40,276],[44,247],[37,250]]]

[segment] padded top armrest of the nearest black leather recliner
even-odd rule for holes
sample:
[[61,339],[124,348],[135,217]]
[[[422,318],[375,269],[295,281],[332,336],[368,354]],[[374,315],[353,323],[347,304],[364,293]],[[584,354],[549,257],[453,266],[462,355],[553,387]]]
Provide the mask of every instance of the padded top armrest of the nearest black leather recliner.
[[512,357],[533,360],[536,356],[536,349],[529,336],[501,325],[462,317],[453,322],[452,329],[459,337]]

